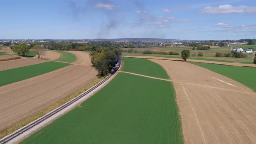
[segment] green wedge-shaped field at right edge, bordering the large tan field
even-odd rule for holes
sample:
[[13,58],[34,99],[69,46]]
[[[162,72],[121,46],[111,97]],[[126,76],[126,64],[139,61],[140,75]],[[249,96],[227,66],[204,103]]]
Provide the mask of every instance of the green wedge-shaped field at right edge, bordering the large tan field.
[[256,92],[256,68],[191,62],[240,82]]

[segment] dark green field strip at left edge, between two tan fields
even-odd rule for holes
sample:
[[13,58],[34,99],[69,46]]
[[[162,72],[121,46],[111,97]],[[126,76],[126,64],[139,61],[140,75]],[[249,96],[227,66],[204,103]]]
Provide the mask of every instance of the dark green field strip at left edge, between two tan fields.
[[0,71],[0,86],[8,85],[13,82],[19,82],[37,75],[42,75],[68,65],[70,64],[62,62],[44,62],[36,65],[28,65],[15,69],[3,70]]

